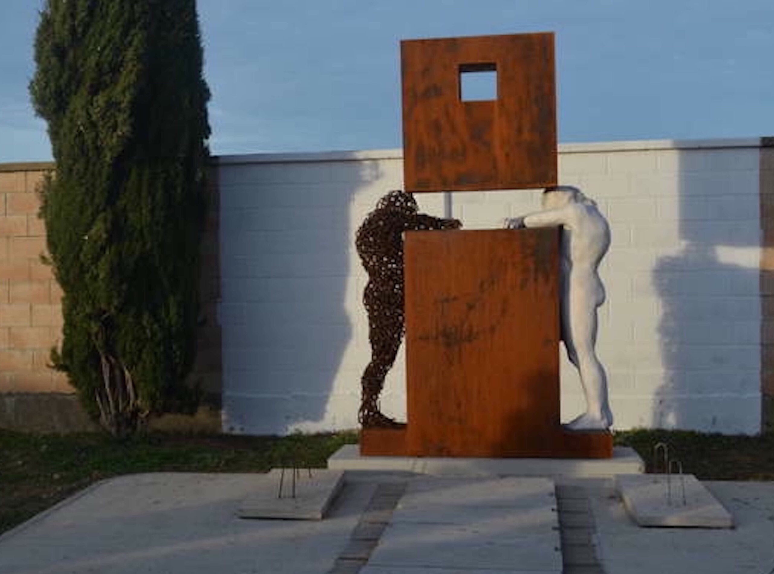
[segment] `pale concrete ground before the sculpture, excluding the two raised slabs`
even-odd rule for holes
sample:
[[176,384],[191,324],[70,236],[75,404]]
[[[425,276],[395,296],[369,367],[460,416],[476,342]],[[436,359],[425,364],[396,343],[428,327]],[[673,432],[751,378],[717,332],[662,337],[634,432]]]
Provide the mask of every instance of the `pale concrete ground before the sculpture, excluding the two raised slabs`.
[[[103,481],[0,536],[0,574],[545,574],[562,563],[565,574],[774,573],[774,483],[705,483],[737,526],[704,530],[640,528],[611,479],[557,478],[557,562],[545,545],[554,538],[522,530],[526,516],[535,517],[536,528],[549,524],[545,508],[531,506],[542,488],[535,479],[519,487],[513,478],[348,471],[323,521],[238,518],[241,502],[264,480],[159,473]],[[502,502],[519,488],[526,502]],[[425,526],[412,531],[418,520]],[[514,541],[544,550],[527,552],[522,562],[507,547],[511,531]],[[401,540],[412,542],[413,556],[400,551]],[[467,563],[481,550],[477,541],[491,549],[481,553],[487,563]]]

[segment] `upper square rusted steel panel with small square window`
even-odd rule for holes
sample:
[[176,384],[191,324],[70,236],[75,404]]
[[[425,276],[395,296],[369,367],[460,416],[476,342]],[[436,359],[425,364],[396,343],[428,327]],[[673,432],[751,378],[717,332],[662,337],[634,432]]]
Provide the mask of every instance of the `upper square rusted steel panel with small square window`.
[[[553,33],[403,40],[408,192],[557,184]],[[495,69],[497,98],[461,100],[461,73]]]

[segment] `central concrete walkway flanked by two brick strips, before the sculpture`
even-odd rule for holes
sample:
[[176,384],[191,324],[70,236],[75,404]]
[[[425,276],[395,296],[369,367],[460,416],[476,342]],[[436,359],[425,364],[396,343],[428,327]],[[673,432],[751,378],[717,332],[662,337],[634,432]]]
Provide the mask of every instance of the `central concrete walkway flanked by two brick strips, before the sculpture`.
[[601,574],[580,486],[546,478],[380,483],[329,574]]

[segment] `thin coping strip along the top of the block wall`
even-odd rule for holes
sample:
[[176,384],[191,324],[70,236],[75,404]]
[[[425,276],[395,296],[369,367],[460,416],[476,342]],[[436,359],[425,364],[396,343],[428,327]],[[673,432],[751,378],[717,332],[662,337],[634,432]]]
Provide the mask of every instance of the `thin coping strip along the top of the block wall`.
[[[591,141],[559,144],[560,154],[587,154],[600,151],[652,151],[668,149],[766,148],[774,138],[714,138],[704,140]],[[358,151],[299,151],[259,154],[214,155],[214,165],[308,163],[322,161],[361,161],[402,159],[400,148]],[[0,163],[0,172],[38,172],[54,168],[53,161]]]

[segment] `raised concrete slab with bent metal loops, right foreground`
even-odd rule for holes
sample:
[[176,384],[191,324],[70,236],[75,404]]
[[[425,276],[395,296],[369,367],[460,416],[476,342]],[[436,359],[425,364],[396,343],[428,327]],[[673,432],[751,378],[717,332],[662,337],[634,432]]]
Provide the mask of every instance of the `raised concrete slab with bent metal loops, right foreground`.
[[732,528],[734,519],[693,474],[619,474],[615,484],[640,526]]

